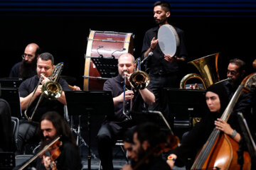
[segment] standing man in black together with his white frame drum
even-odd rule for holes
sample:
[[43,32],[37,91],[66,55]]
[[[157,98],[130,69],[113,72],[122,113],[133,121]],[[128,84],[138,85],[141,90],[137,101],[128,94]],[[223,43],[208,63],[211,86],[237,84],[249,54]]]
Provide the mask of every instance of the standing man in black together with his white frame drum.
[[[148,56],[147,68],[156,96],[156,103],[149,108],[154,111],[164,111],[166,108],[160,101],[163,98],[161,89],[178,87],[178,72],[187,57],[183,30],[169,25],[170,9],[166,1],[154,4],[154,20],[158,26],[146,31],[142,46],[142,58]],[[153,52],[153,55],[149,56],[149,52]]]

